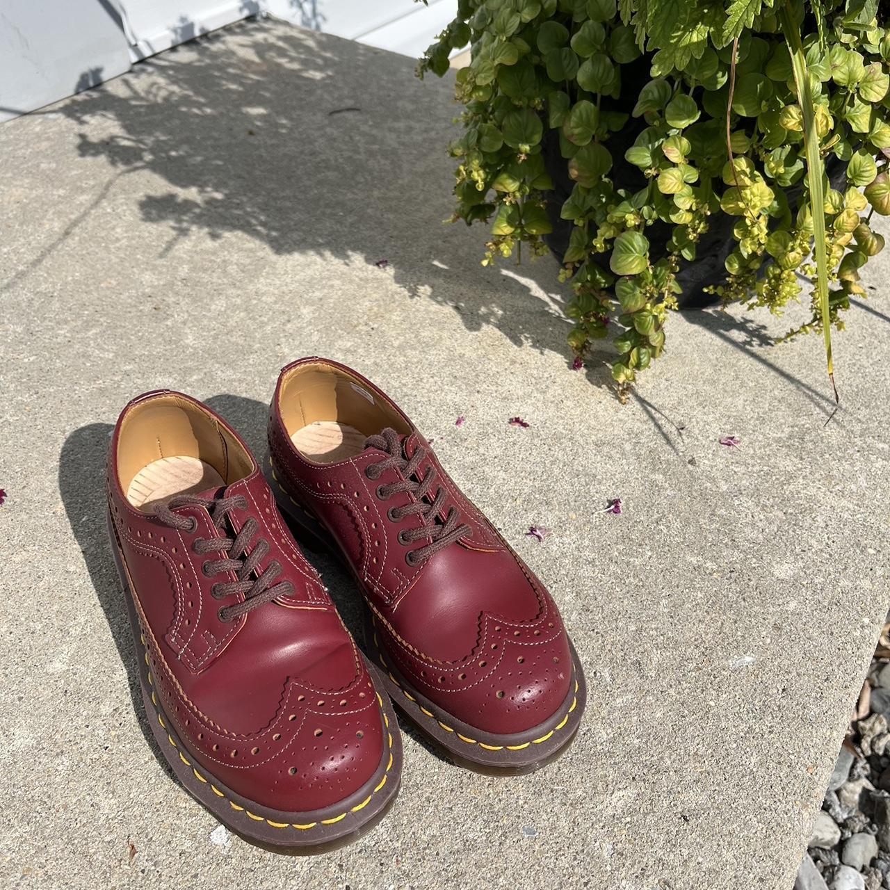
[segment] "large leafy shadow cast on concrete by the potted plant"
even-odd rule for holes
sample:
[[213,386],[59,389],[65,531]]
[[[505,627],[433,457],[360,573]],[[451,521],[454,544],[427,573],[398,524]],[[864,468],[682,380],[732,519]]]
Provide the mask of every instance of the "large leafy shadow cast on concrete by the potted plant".
[[[96,116],[117,125],[101,138],[85,127],[83,157],[169,183],[141,205],[146,221],[172,232],[164,253],[194,231],[211,239],[239,232],[280,255],[386,259],[411,297],[449,305],[467,330],[490,326],[517,346],[555,352],[568,367],[569,289],[557,282],[555,261],[482,269],[483,227],[473,239],[443,227],[453,180],[442,157],[459,133],[442,113],[451,93],[449,77],[420,83],[400,56],[247,21],[175,47],[61,110],[81,125]],[[759,326],[721,312],[693,316],[821,401],[759,354]],[[729,325],[745,336],[729,336]],[[611,390],[613,359],[608,344],[598,345],[588,379]]]

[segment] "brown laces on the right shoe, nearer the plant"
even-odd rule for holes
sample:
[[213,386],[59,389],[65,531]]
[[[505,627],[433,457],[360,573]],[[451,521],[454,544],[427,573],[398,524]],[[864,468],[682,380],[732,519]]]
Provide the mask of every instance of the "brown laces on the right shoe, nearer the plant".
[[462,538],[464,535],[469,534],[470,527],[459,521],[460,514],[457,512],[457,507],[452,506],[449,508],[445,522],[441,522],[439,519],[439,515],[445,507],[445,501],[448,499],[448,493],[441,486],[438,486],[435,497],[432,500],[428,497],[436,477],[436,471],[433,467],[427,467],[424,478],[421,481],[417,481],[414,478],[417,470],[423,463],[426,449],[418,445],[417,450],[409,460],[405,457],[401,447],[399,433],[396,433],[395,430],[389,427],[379,435],[368,436],[365,440],[365,448],[376,448],[387,455],[379,463],[369,464],[366,467],[365,474],[368,476],[368,479],[379,479],[381,473],[392,469],[399,470],[403,477],[401,481],[378,486],[378,498],[388,500],[401,491],[409,491],[416,498],[412,503],[405,506],[390,507],[386,513],[390,522],[401,522],[406,516],[412,514],[420,518],[422,524],[419,528],[402,529],[399,532],[399,543],[405,546],[409,546],[422,538],[429,538],[430,541],[429,544],[415,547],[405,554],[405,560],[410,566],[419,565],[433,554],[449,546],[449,544],[453,544],[457,541],[457,538]]

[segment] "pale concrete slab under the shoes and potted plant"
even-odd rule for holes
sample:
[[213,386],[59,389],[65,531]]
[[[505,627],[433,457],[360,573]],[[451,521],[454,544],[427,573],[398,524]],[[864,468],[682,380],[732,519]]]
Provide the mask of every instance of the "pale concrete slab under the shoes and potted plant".
[[[457,109],[412,71],[252,23],[0,127],[4,886],[790,890],[887,609],[890,255],[836,337],[829,425],[820,340],[773,346],[792,319],[740,310],[672,318],[622,406],[568,366],[554,262],[484,270],[484,232],[441,225]],[[406,735],[387,820],[292,859],[214,843],[146,740],[102,465],[158,386],[262,452],[279,368],[312,353],[435,438],[590,690],[530,777]]]

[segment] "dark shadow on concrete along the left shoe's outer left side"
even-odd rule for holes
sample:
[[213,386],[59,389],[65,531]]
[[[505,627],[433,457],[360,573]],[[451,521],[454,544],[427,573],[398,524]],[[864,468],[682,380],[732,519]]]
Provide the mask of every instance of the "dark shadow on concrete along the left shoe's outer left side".
[[105,460],[109,449],[110,424],[90,424],[80,427],[65,440],[59,458],[59,490],[71,531],[84,554],[86,570],[96,592],[101,609],[108,621],[117,655],[126,669],[133,709],[139,728],[155,760],[167,777],[177,782],[174,771],[161,754],[151,733],[149,718],[142,703],[142,686],[130,617],[126,611],[124,592],[117,577],[114,559],[105,533]]

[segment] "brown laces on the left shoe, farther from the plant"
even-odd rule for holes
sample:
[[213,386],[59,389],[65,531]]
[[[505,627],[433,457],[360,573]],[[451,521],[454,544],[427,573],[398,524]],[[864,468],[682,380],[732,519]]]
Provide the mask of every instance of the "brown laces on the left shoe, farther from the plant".
[[225,517],[232,509],[247,510],[247,498],[243,495],[235,495],[231,498],[197,498],[193,495],[177,495],[166,503],[155,506],[155,515],[161,522],[180,531],[194,531],[198,528],[198,522],[192,516],[181,516],[173,512],[177,506],[203,506],[210,512],[210,519],[214,527],[223,531],[224,538],[195,538],[191,542],[191,549],[196,554],[219,553],[225,554],[216,560],[206,560],[202,566],[204,574],[208,578],[218,575],[223,571],[233,571],[238,576],[237,581],[217,583],[211,588],[211,595],[215,600],[222,600],[233,594],[243,594],[244,602],[231,606],[224,606],[218,615],[221,621],[234,621],[239,616],[246,614],[263,603],[269,603],[276,596],[287,596],[294,592],[294,586],[290,581],[281,581],[274,587],[270,587],[272,581],[281,574],[279,562],[272,561],[263,572],[257,573],[255,578],[251,576],[256,572],[256,567],[263,562],[263,557],[269,553],[269,543],[265,538],[259,538],[254,544],[250,555],[244,558],[247,547],[253,541],[256,532],[260,528],[259,522],[251,516],[241,526],[241,530],[235,538],[231,538],[228,531],[224,530]]

